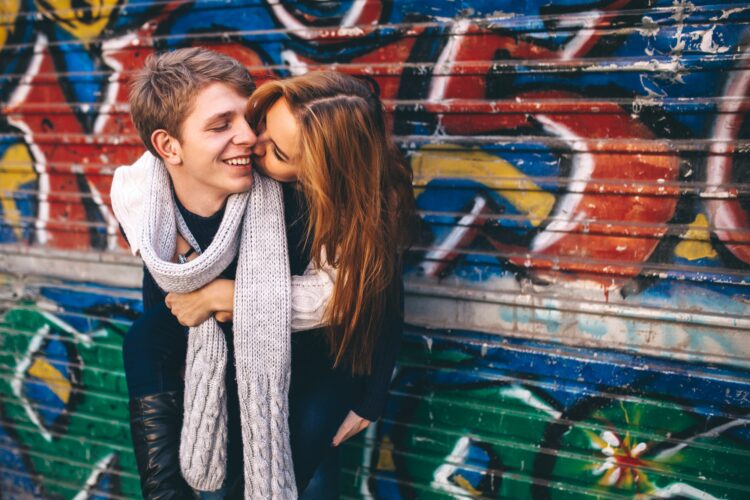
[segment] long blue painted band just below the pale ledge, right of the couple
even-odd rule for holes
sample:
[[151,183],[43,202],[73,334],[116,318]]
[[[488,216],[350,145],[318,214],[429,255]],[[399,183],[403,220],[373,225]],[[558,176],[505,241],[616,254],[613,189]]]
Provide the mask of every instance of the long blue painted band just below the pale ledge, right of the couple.
[[[434,331],[410,328],[405,342],[407,352],[424,350],[423,335],[430,340],[431,357],[444,361],[446,367],[472,367],[470,372],[450,371],[425,373],[415,368],[402,368],[399,377],[409,386],[417,386],[416,378],[428,377],[429,386],[480,383],[507,375],[510,378],[546,380],[553,386],[545,392],[554,396],[560,408],[576,402],[570,394],[597,393],[612,390],[632,391],[634,395],[678,398],[707,413],[736,408],[750,412],[750,372],[718,367],[706,363],[686,365],[682,361],[642,355],[576,348],[526,339],[500,337],[474,332],[453,331],[435,336]],[[461,353],[461,356],[457,356]],[[676,387],[690,388],[675,393]],[[618,389],[619,388],[619,389]],[[744,396],[743,396],[744,395]],[[560,397],[561,399],[558,399]]]

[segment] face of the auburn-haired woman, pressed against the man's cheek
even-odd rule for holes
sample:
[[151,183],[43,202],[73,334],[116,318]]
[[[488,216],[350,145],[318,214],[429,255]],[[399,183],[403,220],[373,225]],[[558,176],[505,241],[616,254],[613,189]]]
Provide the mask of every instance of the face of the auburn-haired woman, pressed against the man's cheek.
[[265,123],[257,132],[252,155],[255,168],[280,182],[296,181],[299,124],[286,99],[282,97],[268,109]]

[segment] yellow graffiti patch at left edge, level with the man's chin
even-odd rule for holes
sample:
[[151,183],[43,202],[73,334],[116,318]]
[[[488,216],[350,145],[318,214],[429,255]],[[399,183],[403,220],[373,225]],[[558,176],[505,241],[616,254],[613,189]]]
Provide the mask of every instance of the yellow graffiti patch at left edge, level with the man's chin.
[[13,227],[19,239],[22,237],[21,214],[12,195],[20,186],[35,179],[34,162],[26,145],[14,144],[6,149],[0,158],[0,203],[3,206],[3,218]]

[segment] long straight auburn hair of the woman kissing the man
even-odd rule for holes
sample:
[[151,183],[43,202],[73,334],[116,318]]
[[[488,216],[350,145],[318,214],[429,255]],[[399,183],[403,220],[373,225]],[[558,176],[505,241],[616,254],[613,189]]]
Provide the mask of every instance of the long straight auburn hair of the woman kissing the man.
[[386,311],[403,314],[401,255],[415,220],[411,168],[366,82],[333,71],[266,82],[248,102],[255,130],[279,99],[299,124],[299,154],[290,161],[307,199],[313,263],[325,249],[338,271],[325,318],[334,366],[370,373]]

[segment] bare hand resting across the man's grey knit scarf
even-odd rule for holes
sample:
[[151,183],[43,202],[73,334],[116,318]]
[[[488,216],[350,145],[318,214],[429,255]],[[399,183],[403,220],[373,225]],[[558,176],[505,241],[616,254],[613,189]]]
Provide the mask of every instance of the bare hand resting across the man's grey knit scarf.
[[[234,309],[234,280],[217,279],[190,293],[170,293],[167,307],[184,326],[198,326],[214,313],[217,321],[231,320]],[[219,317],[222,316],[222,317]]]

